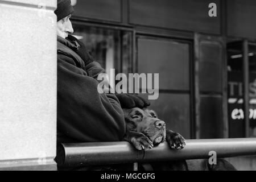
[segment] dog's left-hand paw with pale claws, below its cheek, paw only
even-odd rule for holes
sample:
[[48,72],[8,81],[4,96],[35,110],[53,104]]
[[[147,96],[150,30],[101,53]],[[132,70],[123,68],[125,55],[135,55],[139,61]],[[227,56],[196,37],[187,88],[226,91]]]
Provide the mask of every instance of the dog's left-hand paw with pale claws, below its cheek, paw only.
[[137,150],[150,150],[154,147],[151,140],[144,134],[138,133],[137,135],[134,135],[130,139],[130,143],[133,144]]

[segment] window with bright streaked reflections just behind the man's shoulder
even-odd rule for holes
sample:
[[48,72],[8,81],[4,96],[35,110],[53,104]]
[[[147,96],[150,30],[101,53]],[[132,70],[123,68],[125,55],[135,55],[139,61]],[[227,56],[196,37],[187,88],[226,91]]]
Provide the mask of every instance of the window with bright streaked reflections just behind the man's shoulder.
[[87,26],[73,23],[74,35],[80,39],[91,55],[110,73],[131,72],[132,68],[132,31],[109,27]]

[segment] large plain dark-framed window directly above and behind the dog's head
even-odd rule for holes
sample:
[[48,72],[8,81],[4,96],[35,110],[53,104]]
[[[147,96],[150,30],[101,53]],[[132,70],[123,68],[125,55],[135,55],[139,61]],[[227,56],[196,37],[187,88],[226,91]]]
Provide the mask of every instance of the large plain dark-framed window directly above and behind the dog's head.
[[192,138],[191,42],[138,35],[137,48],[138,73],[159,73],[159,98],[150,108],[168,129]]

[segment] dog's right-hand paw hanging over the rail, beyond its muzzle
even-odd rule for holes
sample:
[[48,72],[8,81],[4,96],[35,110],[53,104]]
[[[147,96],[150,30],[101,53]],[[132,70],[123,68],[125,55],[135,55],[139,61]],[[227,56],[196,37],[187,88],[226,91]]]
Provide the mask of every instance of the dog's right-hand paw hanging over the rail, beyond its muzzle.
[[166,141],[173,149],[180,150],[186,145],[186,140],[179,134],[171,130],[166,131]]

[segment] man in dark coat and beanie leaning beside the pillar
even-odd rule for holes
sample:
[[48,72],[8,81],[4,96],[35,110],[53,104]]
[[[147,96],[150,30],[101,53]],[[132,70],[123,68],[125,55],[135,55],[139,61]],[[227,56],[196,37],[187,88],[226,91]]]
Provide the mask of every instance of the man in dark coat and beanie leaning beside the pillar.
[[70,0],[57,1],[57,142],[122,140],[125,121],[121,105],[150,104],[134,95],[98,93],[96,79],[104,69],[71,35],[72,13]]

